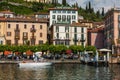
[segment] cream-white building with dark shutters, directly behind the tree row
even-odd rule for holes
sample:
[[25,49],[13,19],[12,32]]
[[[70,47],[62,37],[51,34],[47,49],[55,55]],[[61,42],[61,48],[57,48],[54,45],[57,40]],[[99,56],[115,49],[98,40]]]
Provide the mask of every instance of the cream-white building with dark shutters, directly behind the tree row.
[[54,24],[52,27],[52,43],[54,45],[83,45],[87,44],[87,27],[79,23]]

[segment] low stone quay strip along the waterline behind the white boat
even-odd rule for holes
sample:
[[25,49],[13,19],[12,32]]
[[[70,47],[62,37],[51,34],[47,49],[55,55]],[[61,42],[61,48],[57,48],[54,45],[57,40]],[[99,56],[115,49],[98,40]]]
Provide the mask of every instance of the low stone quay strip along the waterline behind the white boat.
[[[21,63],[22,62],[30,63],[30,62],[34,62],[34,61],[33,60],[24,60],[24,61],[0,60],[0,64],[18,64],[20,62]],[[68,60],[44,60],[44,61],[38,61],[38,63],[39,62],[52,62],[53,64],[61,64],[61,63],[80,64],[81,63],[80,60],[77,60],[77,59],[75,59],[75,60],[69,60],[69,59]]]

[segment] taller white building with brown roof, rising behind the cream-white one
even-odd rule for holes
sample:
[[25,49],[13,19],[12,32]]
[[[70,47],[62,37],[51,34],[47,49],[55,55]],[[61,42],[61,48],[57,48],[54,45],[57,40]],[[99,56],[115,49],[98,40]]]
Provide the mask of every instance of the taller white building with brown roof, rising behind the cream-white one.
[[55,23],[78,22],[78,10],[71,7],[50,8],[50,26]]

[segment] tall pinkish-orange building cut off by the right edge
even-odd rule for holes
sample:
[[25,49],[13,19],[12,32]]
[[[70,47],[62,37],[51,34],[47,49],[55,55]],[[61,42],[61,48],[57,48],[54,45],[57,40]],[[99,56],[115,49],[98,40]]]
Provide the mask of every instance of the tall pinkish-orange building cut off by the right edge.
[[113,8],[105,16],[105,47],[120,55],[120,8]]

